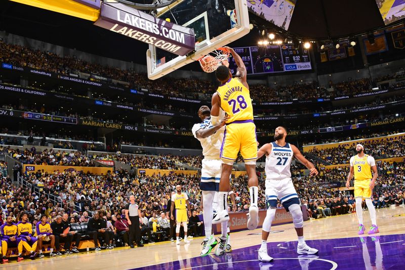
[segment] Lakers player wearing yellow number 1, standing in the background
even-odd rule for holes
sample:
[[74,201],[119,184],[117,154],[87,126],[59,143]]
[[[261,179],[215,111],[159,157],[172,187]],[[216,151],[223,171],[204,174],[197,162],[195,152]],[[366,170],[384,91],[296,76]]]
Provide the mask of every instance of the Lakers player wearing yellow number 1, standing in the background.
[[[180,245],[180,226],[183,223],[184,228],[184,243],[188,244],[190,241],[187,239],[187,220],[191,216],[190,204],[188,203],[188,196],[184,192],[181,192],[181,185],[176,185],[176,193],[172,195],[172,204],[170,212],[172,213],[171,219],[173,218],[173,210],[176,206],[176,245]],[[188,213],[188,215],[187,215]]]

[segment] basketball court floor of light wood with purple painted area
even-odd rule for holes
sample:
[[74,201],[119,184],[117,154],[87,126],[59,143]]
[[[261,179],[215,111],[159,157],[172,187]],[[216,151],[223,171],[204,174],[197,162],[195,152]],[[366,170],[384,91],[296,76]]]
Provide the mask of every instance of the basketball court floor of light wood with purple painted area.
[[[231,234],[232,253],[199,257],[203,238],[190,244],[147,244],[143,248],[116,248],[101,252],[46,257],[2,264],[7,269],[405,269],[405,208],[377,209],[380,234],[357,235],[356,214],[309,220],[304,223],[307,243],[317,255],[298,255],[293,224],[273,226],[267,249],[271,263],[257,260],[261,229]],[[363,214],[371,224],[368,211]]]

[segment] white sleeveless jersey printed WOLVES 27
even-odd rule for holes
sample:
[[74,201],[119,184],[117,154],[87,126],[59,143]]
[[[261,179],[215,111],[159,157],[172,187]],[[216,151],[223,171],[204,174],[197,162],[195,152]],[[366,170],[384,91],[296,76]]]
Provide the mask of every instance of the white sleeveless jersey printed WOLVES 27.
[[282,180],[291,178],[290,165],[294,153],[289,143],[285,146],[279,146],[272,142],[270,155],[266,157],[266,179]]

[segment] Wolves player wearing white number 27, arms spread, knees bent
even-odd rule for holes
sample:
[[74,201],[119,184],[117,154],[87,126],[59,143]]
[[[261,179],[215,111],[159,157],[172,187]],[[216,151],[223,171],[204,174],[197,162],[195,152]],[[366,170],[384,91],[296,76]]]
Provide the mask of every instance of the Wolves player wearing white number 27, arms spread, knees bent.
[[304,220],[298,200],[297,191],[291,180],[290,165],[293,157],[298,159],[310,170],[309,175],[317,175],[315,166],[302,156],[298,148],[286,142],[287,130],[284,127],[277,127],[274,132],[274,142],[266,143],[258,151],[258,158],[266,155],[266,207],[267,214],[263,222],[262,245],[259,249],[259,260],[270,262],[273,260],[267,254],[267,238],[269,236],[271,223],[275,217],[277,199],[287,212],[293,216],[294,227],[298,236],[298,254],[315,254],[317,249],[310,248],[304,240]]

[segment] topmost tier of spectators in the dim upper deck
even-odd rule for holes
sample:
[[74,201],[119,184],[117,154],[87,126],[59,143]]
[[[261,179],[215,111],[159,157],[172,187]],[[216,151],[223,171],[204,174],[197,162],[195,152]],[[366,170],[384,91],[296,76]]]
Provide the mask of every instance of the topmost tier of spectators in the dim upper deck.
[[[56,73],[75,70],[89,74],[98,74],[105,78],[129,82],[137,89],[148,89],[152,93],[209,99],[215,86],[208,81],[196,78],[178,79],[165,77],[151,81],[146,74],[139,74],[132,70],[122,70],[117,67],[102,66],[96,63],[82,61],[76,57],[59,57],[51,52],[32,50],[19,45],[0,42],[0,61],[16,66],[28,66]],[[327,89],[328,88],[328,89]],[[330,91],[330,90],[333,91]],[[316,82],[294,84],[270,88],[266,85],[251,85],[251,95],[255,101],[287,101],[293,99],[313,99],[344,96],[371,91],[370,79],[332,83],[320,87]]]

